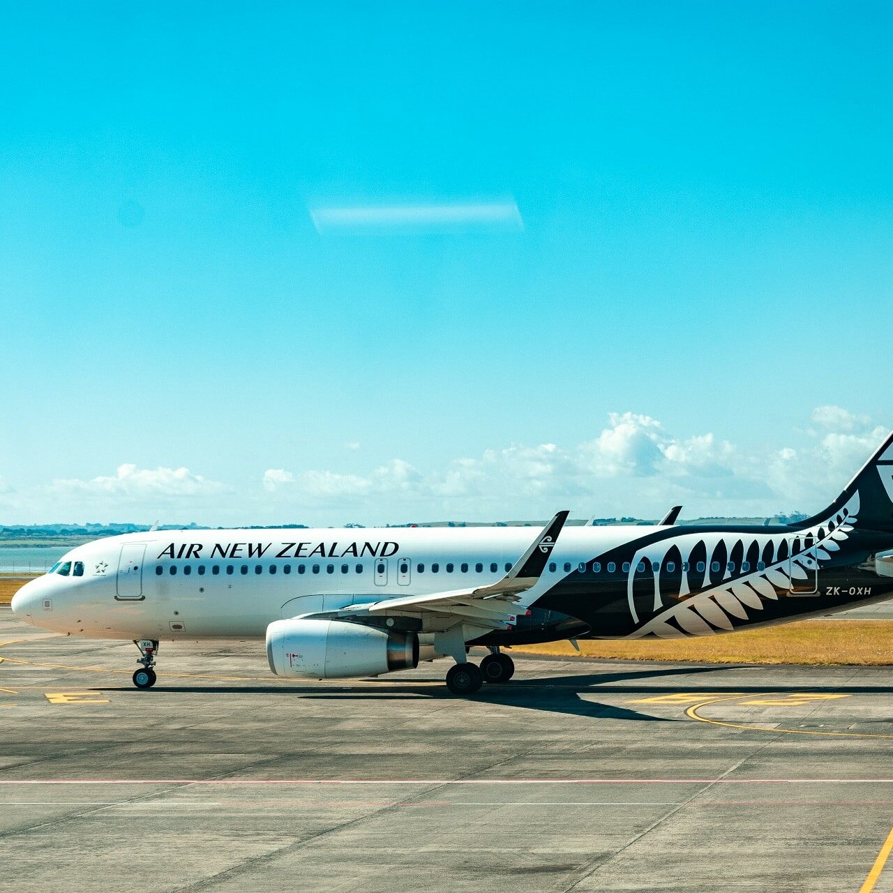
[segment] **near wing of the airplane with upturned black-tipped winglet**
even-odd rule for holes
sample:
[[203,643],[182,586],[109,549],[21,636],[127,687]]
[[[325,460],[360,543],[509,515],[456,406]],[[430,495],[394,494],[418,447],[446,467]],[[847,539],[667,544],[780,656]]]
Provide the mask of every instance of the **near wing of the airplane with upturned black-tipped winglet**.
[[338,616],[424,616],[431,613],[454,622],[466,622],[490,629],[505,629],[514,622],[514,603],[522,592],[535,586],[546,567],[555,541],[569,512],[559,512],[539,531],[527,551],[516,561],[502,580],[489,586],[452,589],[423,596],[386,598],[378,602],[347,605]]

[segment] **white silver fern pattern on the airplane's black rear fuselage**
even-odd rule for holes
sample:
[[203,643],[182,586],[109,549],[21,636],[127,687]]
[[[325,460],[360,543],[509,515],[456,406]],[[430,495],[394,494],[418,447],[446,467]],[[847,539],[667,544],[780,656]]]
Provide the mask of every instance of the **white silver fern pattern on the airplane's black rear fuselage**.
[[[733,617],[739,621],[755,619],[753,615],[763,610],[765,600],[778,599],[780,593],[788,593],[798,582],[809,580],[811,575],[814,579],[822,562],[827,562],[832,553],[839,551],[840,544],[848,538],[858,512],[859,493],[856,491],[847,505],[808,529],[745,536],[717,531],[708,538],[703,534],[683,534],[643,547],[630,563],[627,597],[632,619],[638,623],[634,582],[641,583],[642,576],[640,572],[637,575],[637,570],[643,565],[646,570],[651,569],[655,616],[630,638],[704,636],[735,629]],[[730,563],[730,555],[738,556],[739,560]],[[748,572],[741,572],[747,556],[757,557],[764,565],[763,569],[756,569],[757,561],[747,560]],[[691,585],[690,569],[702,560],[705,570],[697,577],[703,579],[696,579],[695,585]],[[678,561],[682,568],[689,569],[682,573],[678,586],[671,592],[662,591],[661,571],[668,561]],[[711,567],[717,562],[722,575],[718,580]],[[678,600],[678,604],[664,610],[666,599]]]

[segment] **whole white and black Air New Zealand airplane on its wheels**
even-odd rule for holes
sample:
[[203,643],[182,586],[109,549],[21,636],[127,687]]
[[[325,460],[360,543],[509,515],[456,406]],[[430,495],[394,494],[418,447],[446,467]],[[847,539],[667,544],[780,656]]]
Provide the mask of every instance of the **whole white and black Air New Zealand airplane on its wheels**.
[[[72,549],[13,597],[45,630],[132,639],[138,689],[163,640],[265,638],[292,679],[452,658],[456,696],[505,683],[514,645],[733,632],[893,594],[893,432],[822,512],[792,524],[148,530]],[[472,646],[489,654],[480,666]]]

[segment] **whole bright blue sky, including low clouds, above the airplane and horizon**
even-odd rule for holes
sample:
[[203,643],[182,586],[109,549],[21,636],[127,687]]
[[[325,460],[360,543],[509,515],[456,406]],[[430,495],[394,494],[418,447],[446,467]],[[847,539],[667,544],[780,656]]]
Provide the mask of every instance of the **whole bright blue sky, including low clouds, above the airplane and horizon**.
[[7,5],[0,523],[821,505],[893,424],[891,38]]

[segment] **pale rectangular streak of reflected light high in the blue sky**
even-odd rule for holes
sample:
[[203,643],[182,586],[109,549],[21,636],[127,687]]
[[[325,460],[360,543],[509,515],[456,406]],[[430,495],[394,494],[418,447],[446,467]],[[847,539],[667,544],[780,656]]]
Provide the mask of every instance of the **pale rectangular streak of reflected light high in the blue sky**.
[[332,231],[523,230],[513,198],[437,204],[316,205],[310,209],[321,235]]

